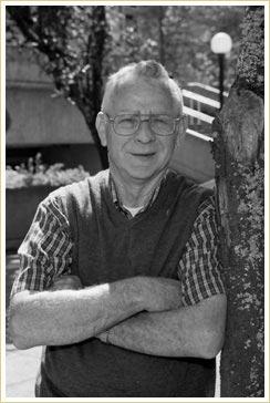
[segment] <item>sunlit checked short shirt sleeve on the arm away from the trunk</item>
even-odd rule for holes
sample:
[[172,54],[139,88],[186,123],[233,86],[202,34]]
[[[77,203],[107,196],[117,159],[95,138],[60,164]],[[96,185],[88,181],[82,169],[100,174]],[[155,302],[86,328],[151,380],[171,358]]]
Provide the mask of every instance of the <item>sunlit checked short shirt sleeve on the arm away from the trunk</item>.
[[55,277],[70,273],[72,241],[69,221],[53,197],[38,207],[33,223],[19,248],[20,271],[11,296],[19,291],[43,291]]

